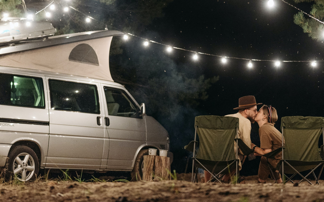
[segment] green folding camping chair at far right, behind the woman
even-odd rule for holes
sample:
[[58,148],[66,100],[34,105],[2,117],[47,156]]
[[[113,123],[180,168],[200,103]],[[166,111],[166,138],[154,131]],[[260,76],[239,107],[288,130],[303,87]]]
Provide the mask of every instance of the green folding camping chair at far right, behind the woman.
[[[313,174],[316,184],[319,184],[318,179],[323,171],[324,160],[318,152],[318,139],[324,132],[323,127],[323,117],[287,116],[281,119],[281,131],[286,148],[283,150],[282,160],[278,163],[277,169],[279,168],[279,172],[282,173],[283,183],[287,181],[294,183],[291,179],[298,174],[303,178],[298,184],[303,180],[312,184],[306,177]],[[319,175],[316,177],[314,170],[320,166]],[[310,170],[306,176],[300,174],[306,170]],[[293,175],[287,177],[285,174]],[[284,181],[284,176],[288,178],[286,181]]]

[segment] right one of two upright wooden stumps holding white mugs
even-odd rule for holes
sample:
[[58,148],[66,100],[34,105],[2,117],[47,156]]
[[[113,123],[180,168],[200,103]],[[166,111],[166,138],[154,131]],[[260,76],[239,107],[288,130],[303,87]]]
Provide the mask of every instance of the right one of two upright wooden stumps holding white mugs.
[[154,181],[171,180],[170,158],[165,156],[156,156],[154,165]]

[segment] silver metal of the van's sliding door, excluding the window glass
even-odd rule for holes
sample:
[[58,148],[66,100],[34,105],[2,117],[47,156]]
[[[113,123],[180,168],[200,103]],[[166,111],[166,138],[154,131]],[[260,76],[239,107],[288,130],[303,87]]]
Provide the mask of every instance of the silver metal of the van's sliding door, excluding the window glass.
[[[104,144],[104,127],[98,83],[46,76],[48,89],[50,89],[49,80],[51,79],[55,82],[74,82],[75,85],[80,83],[96,86],[100,112],[95,114],[55,110],[54,107],[49,109],[50,138],[46,167],[55,165],[64,168],[99,169]],[[51,106],[51,93],[54,92],[50,91],[48,95],[49,106]],[[72,101],[72,98],[70,99]],[[97,117],[101,120],[100,125],[97,123]]]

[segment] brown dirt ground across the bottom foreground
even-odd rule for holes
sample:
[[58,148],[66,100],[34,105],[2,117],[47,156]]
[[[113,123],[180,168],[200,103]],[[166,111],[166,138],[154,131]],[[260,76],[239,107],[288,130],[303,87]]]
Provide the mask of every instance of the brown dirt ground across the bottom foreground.
[[[38,181],[0,184],[0,201],[96,201],[96,202],[157,202],[157,201],[314,201],[324,202],[324,181],[320,185],[302,182],[254,184],[257,177],[249,176],[245,185],[191,183],[190,174],[178,174],[178,180],[160,182],[69,182]],[[314,182],[314,181],[312,181]],[[315,183],[314,183],[315,184]]]

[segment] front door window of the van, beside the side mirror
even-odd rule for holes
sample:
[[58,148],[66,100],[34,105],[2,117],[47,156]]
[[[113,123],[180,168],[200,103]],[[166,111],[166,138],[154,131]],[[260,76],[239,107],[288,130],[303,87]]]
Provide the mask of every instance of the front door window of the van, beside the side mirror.
[[140,109],[133,103],[127,93],[120,89],[104,87],[108,115],[139,118]]

